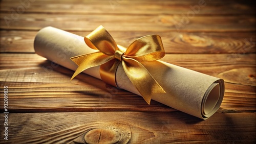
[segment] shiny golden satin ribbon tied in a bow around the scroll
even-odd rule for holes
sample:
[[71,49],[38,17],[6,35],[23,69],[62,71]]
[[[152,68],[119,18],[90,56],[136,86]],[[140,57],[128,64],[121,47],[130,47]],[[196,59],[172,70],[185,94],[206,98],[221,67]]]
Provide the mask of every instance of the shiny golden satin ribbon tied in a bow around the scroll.
[[118,87],[115,75],[119,63],[122,62],[127,77],[148,104],[150,104],[154,93],[165,93],[163,88],[140,63],[155,61],[165,55],[159,35],[148,35],[138,38],[125,49],[120,45],[117,46],[109,32],[102,26],[99,26],[88,36],[84,37],[84,41],[91,49],[99,50],[99,52],[70,58],[78,65],[71,80],[83,70],[100,65],[101,79]]

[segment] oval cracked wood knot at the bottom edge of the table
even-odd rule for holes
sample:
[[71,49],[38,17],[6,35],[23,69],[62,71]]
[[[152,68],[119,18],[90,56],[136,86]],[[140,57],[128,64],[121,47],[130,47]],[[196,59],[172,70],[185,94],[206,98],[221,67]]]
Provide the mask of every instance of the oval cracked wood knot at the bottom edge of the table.
[[116,143],[120,139],[120,133],[109,129],[93,129],[84,135],[86,143]]

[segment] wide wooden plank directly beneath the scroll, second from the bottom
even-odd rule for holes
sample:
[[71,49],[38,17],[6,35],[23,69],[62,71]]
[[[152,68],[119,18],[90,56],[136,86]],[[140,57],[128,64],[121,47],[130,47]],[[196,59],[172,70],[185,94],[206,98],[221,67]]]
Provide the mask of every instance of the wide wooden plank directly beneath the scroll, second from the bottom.
[[[163,60],[223,78],[226,81],[226,93],[220,111],[243,112],[256,110],[255,56],[255,54],[198,54],[196,56],[195,54],[168,54]],[[36,54],[0,54],[1,87],[4,85],[9,87],[12,95],[10,110],[23,112],[176,111],[155,101],[147,105],[136,94],[105,85],[101,80],[85,74],[70,81],[74,73],[72,70],[53,66],[50,61],[45,60]],[[231,73],[234,76],[226,75]]]

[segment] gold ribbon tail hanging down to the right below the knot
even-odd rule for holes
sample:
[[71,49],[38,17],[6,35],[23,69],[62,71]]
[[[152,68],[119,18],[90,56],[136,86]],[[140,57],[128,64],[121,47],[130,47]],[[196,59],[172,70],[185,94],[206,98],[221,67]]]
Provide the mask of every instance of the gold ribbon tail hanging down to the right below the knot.
[[150,104],[154,93],[166,93],[148,70],[137,60],[123,57],[122,65],[127,77],[147,104]]

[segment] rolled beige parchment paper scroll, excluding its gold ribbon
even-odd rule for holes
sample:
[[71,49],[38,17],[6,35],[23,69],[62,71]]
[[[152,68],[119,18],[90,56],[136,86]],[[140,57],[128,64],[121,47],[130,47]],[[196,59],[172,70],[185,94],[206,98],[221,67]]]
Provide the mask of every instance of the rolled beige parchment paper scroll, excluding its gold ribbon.
[[[71,57],[98,52],[87,46],[83,37],[53,27],[43,28],[37,33],[34,49],[38,55],[72,70],[78,66]],[[154,93],[153,100],[202,119],[209,118],[219,109],[224,97],[222,79],[160,60],[141,64],[166,92]],[[101,79],[99,71],[100,66],[95,66],[82,73]],[[116,85],[141,96],[122,64],[116,70]]]

